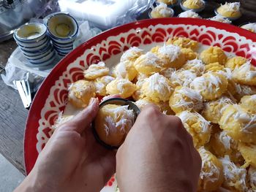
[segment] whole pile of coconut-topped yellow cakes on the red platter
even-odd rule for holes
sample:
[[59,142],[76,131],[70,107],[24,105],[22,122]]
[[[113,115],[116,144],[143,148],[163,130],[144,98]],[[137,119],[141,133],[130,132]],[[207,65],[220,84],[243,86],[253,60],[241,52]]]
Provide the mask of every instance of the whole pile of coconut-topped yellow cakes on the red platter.
[[118,94],[140,109],[156,104],[192,135],[203,161],[198,191],[255,191],[256,68],[219,47],[199,47],[184,37],[148,52],[131,47],[113,69],[89,66],[69,87],[69,103],[81,109],[91,97]]

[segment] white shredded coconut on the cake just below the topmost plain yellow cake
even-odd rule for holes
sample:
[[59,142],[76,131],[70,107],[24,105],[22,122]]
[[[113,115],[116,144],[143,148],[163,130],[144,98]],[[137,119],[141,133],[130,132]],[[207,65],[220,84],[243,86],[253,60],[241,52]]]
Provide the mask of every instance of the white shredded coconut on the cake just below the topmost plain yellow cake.
[[173,62],[181,54],[181,48],[176,45],[164,45],[159,48],[158,53],[170,59],[170,62]]

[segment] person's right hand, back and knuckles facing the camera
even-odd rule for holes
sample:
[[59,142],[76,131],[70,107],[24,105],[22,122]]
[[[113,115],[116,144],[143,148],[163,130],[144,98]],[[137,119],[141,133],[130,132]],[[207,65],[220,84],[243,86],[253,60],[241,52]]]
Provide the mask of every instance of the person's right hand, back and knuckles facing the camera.
[[143,108],[116,154],[120,191],[196,191],[201,158],[176,116]]

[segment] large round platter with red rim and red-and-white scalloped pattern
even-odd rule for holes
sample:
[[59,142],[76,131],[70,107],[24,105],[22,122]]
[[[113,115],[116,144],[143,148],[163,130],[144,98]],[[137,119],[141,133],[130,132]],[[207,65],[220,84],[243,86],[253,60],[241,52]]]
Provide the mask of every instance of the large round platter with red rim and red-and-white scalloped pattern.
[[[45,143],[51,126],[67,104],[67,88],[83,78],[83,70],[90,64],[105,61],[116,64],[121,53],[129,47],[150,47],[170,37],[189,37],[202,45],[219,46],[226,53],[252,59],[256,64],[256,35],[236,26],[211,20],[192,18],[162,18],[140,20],[105,31],[89,39],[63,58],[42,83],[29,111],[24,138],[26,173],[29,174]],[[113,191],[115,178],[108,182]]]

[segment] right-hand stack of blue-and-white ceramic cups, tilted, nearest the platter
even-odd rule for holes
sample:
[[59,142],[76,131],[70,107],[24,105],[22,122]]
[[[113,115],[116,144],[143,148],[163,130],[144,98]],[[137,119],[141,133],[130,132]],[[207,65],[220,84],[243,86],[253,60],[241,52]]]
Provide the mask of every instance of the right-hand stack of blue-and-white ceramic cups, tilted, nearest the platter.
[[75,18],[59,12],[50,15],[46,26],[53,47],[60,56],[65,56],[73,50],[73,42],[78,35],[78,23]]

